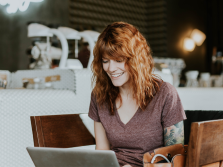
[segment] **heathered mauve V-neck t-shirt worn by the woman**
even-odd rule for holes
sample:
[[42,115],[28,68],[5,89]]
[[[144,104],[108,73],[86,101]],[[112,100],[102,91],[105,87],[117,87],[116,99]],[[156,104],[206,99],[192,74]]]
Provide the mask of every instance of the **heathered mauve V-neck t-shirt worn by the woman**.
[[111,150],[115,151],[120,165],[143,166],[143,154],[164,146],[164,128],[186,119],[181,100],[176,89],[163,82],[144,111],[138,108],[135,115],[124,124],[114,105],[115,115],[108,107],[99,107],[95,96],[91,95],[89,117],[101,122]]

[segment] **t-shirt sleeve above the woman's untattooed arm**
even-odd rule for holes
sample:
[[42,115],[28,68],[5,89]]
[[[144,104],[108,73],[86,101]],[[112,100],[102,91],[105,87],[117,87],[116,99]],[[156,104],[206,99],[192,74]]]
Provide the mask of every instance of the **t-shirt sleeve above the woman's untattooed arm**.
[[91,92],[91,102],[90,102],[88,116],[96,122],[101,122],[98,115],[96,97],[93,95],[93,92]]

